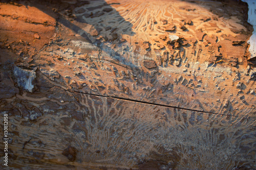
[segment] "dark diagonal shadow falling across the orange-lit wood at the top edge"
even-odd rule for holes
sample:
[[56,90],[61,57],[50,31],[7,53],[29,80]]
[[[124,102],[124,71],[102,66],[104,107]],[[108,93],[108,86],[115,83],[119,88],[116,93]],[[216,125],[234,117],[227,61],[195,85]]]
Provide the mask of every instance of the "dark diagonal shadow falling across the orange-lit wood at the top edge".
[[[96,45],[103,52],[111,54],[110,57],[122,64],[137,69],[132,62],[122,57],[120,51],[123,43],[127,42],[123,35],[133,36],[132,23],[126,21],[115,8],[104,0],[96,1],[42,1],[30,2],[33,6],[56,19],[57,23],[69,28],[80,35],[85,42]],[[46,6],[52,6],[52,11],[46,10]],[[84,27],[85,26],[85,27]],[[116,46],[113,50],[110,46]]]

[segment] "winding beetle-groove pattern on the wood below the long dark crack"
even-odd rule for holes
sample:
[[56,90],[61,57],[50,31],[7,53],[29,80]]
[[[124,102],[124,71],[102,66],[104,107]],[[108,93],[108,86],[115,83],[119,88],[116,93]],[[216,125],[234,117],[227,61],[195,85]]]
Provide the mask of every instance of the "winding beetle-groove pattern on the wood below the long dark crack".
[[[61,92],[58,100],[70,102],[51,99],[51,90]],[[76,148],[76,161],[81,165],[90,162],[135,169],[138,162],[152,159],[162,159],[164,167],[230,169],[251,162],[255,156],[255,119],[251,117],[147,105],[56,87],[51,90],[44,94],[48,97],[36,101],[27,93],[1,103],[1,114],[8,112],[15,117],[10,122],[11,144],[17,146],[12,152],[18,152],[22,143],[32,138],[23,150],[24,157],[13,160],[14,167],[32,169],[43,164],[40,167],[46,169],[54,163],[50,169],[68,169],[61,165],[65,162],[61,152],[67,145]],[[22,104],[18,103],[20,99]],[[48,109],[50,103],[55,109]],[[9,105],[19,111],[4,111]],[[34,111],[26,116],[24,108],[28,107]],[[32,157],[40,163],[30,162]]]

